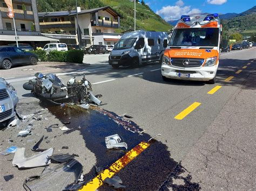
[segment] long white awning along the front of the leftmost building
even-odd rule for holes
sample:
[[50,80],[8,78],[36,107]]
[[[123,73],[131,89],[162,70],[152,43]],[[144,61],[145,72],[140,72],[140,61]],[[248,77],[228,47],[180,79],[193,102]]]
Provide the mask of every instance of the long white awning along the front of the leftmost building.
[[[2,41],[16,41],[14,35],[0,35]],[[44,36],[18,36],[18,41],[59,41],[58,39]]]

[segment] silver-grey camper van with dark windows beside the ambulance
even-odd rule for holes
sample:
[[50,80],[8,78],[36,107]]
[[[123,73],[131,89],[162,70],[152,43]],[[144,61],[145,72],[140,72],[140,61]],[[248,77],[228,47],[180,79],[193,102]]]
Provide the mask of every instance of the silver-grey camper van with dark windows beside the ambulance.
[[134,31],[125,33],[114,45],[109,56],[113,68],[138,66],[140,63],[161,61],[168,45],[166,32]]

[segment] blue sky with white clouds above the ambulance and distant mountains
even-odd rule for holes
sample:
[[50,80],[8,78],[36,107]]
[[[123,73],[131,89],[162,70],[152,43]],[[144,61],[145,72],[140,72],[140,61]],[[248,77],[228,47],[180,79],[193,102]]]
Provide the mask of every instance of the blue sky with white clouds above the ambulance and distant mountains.
[[166,21],[193,13],[241,13],[256,5],[256,0],[144,0]]

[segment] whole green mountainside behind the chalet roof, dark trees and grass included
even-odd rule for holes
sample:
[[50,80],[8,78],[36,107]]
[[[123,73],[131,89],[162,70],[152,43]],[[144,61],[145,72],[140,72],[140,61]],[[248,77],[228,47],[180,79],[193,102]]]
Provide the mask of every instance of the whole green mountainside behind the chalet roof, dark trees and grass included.
[[[77,2],[81,9],[111,6],[119,12],[123,18],[121,19],[120,29],[117,29],[116,32],[133,29],[134,27],[134,3],[129,0],[77,0]],[[76,9],[74,0],[37,0],[37,4],[39,12],[45,12],[46,9],[48,12]],[[136,30],[169,31],[171,29],[172,26],[154,13],[149,6],[136,4]]]

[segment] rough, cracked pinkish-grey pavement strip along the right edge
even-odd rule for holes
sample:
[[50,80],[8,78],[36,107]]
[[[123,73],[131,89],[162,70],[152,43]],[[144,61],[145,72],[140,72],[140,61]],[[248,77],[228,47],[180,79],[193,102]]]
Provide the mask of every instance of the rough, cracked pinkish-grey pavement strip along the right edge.
[[255,74],[245,85],[181,162],[203,190],[255,190]]

